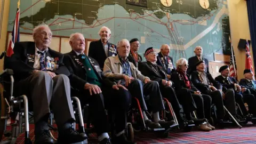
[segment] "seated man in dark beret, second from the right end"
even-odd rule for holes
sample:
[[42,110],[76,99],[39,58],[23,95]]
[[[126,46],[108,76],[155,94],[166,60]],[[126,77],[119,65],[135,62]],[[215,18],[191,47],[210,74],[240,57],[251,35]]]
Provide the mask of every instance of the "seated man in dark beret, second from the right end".
[[[229,72],[229,67],[227,65],[220,67],[219,73],[221,73],[221,75],[215,77],[215,80],[222,85],[222,91],[225,91],[227,89],[234,90],[235,100],[240,106],[243,115],[246,116],[248,112],[244,106],[244,100],[247,101],[247,99],[252,99],[252,97],[254,96],[252,94],[243,94],[244,92],[246,92],[246,87],[241,87],[240,85],[238,85],[236,79],[229,76]],[[246,99],[244,99],[244,97],[246,97]]]

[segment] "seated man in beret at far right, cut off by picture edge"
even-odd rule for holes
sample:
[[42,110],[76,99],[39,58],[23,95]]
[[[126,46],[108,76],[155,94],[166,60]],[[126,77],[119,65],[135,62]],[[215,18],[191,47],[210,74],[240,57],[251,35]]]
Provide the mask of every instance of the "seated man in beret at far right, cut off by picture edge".
[[254,95],[254,97],[250,97],[251,99],[247,100],[248,98],[244,97],[244,102],[247,103],[249,107],[249,111],[251,114],[253,114],[254,117],[256,117],[255,109],[255,95],[256,95],[256,81],[253,80],[253,73],[251,69],[245,69],[244,70],[244,78],[240,80],[240,84],[246,89],[250,90],[251,94]]

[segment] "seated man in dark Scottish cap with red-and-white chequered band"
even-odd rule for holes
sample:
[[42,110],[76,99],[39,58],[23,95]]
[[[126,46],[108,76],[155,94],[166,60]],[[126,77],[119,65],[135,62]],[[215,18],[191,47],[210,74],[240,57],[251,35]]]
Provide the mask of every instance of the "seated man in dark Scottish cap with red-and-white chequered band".
[[175,90],[172,88],[173,82],[167,79],[164,69],[156,64],[156,51],[153,47],[149,47],[144,55],[147,61],[140,62],[138,67],[141,74],[149,77],[152,81],[158,82],[163,97],[171,102],[174,113],[177,115],[180,114],[180,116],[178,116],[178,121],[183,123],[185,121],[183,118],[184,115],[181,112],[183,111],[183,108],[176,97]]

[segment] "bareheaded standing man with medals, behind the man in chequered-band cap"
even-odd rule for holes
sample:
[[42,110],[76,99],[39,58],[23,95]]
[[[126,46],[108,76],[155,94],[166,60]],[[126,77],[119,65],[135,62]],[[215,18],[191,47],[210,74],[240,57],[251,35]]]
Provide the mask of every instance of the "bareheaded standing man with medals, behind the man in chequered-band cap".
[[167,78],[171,78],[172,70],[175,69],[173,66],[172,57],[169,56],[170,54],[170,46],[167,44],[163,44],[160,48],[160,52],[157,55],[157,65],[163,67],[165,73],[167,74]]

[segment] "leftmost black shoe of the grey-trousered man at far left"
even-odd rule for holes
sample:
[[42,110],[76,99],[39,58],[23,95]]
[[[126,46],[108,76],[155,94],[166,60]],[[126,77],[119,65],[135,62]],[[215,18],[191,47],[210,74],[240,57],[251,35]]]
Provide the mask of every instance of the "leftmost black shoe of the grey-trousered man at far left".
[[53,144],[54,140],[51,138],[49,130],[42,130],[35,134],[35,144]]

